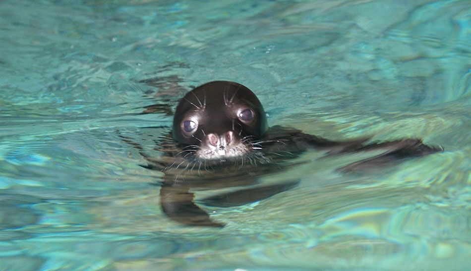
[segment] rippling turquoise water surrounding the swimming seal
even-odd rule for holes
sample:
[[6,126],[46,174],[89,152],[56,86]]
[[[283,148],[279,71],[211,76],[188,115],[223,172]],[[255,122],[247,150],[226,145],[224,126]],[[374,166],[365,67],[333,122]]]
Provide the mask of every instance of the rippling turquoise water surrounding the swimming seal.
[[[469,0],[4,0],[0,37],[0,270],[471,266]],[[272,177],[296,188],[181,226],[119,135],[164,133],[142,107],[213,80],[270,125],[445,152],[367,175],[310,152]]]

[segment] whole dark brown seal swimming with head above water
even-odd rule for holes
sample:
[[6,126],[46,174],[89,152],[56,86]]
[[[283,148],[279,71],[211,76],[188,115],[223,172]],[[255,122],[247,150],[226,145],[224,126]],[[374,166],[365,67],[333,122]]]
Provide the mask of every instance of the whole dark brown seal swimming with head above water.
[[375,150],[371,157],[340,168],[342,172],[383,168],[443,150],[421,139],[367,143],[369,139],[332,141],[293,128],[268,128],[263,106],[251,90],[235,82],[214,81],[189,91],[179,101],[173,130],[159,142],[161,156],[140,150],[148,162],[144,167],[165,173],[160,197],[169,218],[185,225],[224,226],[211,220],[190,190],[231,188],[198,203],[232,207],[295,187],[299,180],[270,185],[257,180],[296,166],[290,161],[309,149],[326,151],[326,155]]

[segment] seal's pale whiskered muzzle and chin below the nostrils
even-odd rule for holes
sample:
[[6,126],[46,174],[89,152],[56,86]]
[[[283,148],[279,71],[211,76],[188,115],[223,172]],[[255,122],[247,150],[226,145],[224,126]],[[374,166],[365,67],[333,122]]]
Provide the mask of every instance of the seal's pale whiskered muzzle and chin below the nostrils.
[[229,144],[227,146],[214,146],[211,144],[202,144],[196,151],[196,157],[205,160],[226,159],[244,156],[250,148],[242,142]]

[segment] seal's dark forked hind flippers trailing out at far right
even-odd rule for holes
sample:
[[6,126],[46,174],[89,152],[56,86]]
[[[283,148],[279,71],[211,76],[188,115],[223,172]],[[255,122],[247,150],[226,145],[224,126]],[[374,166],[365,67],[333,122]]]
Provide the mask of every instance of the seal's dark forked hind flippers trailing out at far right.
[[425,145],[421,139],[403,139],[365,145],[355,151],[381,150],[385,152],[360,160],[339,169],[342,172],[365,172],[398,164],[403,159],[441,152],[443,148]]

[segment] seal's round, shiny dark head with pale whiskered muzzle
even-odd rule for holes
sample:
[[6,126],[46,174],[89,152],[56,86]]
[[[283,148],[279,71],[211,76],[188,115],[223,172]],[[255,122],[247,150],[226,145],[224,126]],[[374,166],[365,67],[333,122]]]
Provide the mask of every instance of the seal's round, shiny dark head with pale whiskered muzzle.
[[206,83],[188,92],[177,105],[173,136],[196,150],[200,159],[242,156],[251,150],[248,141],[268,130],[257,96],[229,81]]

